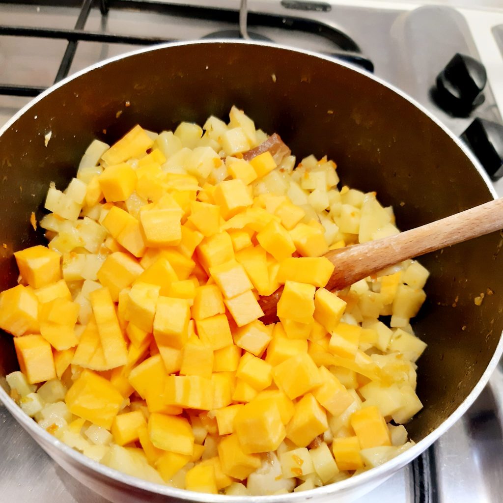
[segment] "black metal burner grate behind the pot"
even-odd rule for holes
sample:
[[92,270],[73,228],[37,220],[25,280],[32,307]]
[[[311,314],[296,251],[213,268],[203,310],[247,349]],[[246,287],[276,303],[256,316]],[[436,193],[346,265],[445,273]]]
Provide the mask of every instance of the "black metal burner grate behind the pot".
[[[159,38],[151,36],[130,36],[85,30],[86,22],[92,9],[99,9],[103,17],[106,17],[108,15],[110,9],[117,9],[141,11],[144,13],[169,14],[171,16],[180,18],[231,23],[235,24],[236,26],[238,25],[239,21],[238,10],[193,5],[166,4],[154,2],[151,0],[83,0],[82,4],[79,4],[74,0],[69,0],[67,2],[60,2],[58,0],[39,0],[38,2],[33,2],[32,0],[20,0],[19,2],[12,1],[9,3],[17,5],[73,7],[79,9],[77,20],[73,29],[33,28],[25,26],[0,25],[0,37],[37,37],[62,39],[68,41],[68,45],[66,46],[66,50],[56,73],[54,83],[58,82],[68,75],[73,58],[75,56],[77,44],[80,41],[149,46],[165,42],[176,42],[177,40],[179,40],[167,37]],[[296,2],[296,4],[302,3],[303,2]],[[257,27],[282,28],[286,30],[300,31],[306,34],[321,36],[334,46],[334,50],[328,53],[330,56],[356,63],[369,71],[373,71],[372,62],[361,54],[360,47],[350,36],[338,30],[337,28],[334,28],[317,20],[305,19],[296,16],[249,13],[248,23]],[[7,85],[0,82],[0,95],[32,97],[37,96],[44,90],[45,88],[36,85]]]

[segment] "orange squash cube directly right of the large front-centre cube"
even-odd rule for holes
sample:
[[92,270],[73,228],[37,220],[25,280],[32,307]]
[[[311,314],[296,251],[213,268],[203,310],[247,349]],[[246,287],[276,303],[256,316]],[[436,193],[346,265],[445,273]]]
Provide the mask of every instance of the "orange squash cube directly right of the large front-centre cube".
[[286,436],[298,447],[308,446],[328,429],[326,413],[311,393],[296,404],[293,417],[286,427]]

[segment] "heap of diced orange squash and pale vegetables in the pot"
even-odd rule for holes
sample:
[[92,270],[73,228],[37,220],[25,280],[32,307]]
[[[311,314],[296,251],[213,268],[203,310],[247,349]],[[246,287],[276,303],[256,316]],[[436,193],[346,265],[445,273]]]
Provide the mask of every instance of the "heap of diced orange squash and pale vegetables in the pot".
[[[323,254],[397,233],[392,208],[229,117],[95,140],[66,190],[51,184],[48,246],[17,251],[19,285],[0,294],[21,368],[7,381],[40,427],[130,475],[312,489],[413,444],[428,271],[323,288]],[[282,285],[265,324],[258,299]]]

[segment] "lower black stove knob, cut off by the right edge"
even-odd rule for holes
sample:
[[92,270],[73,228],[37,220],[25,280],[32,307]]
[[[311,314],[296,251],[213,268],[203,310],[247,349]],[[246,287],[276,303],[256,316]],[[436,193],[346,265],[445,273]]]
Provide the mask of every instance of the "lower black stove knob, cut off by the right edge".
[[492,180],[503,177],[503,125],[475,119],[461,135]]

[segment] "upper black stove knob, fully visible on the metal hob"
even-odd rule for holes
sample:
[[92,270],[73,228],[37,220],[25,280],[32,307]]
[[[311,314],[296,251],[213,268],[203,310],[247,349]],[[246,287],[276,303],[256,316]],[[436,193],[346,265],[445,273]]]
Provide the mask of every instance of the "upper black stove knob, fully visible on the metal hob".
[[436,101],[454,115],[466,115],[484,101],[486,82],[484,65],[457,53],[437,76]]

